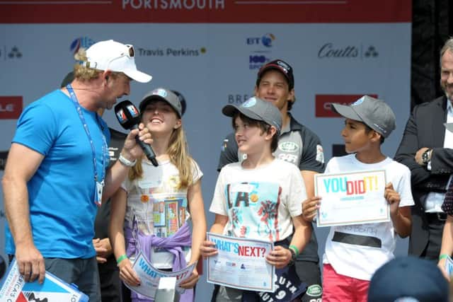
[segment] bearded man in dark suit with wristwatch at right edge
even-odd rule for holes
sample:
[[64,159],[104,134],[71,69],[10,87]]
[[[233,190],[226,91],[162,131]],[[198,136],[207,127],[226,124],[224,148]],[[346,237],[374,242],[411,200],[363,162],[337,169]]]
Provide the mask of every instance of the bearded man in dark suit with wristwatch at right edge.
[[411,169],[415,206],[409,254],[437,261],[447,214],[442,202],[453,173],[453,133],[445,122],[453,122],[453,38],[440,51],[442,86],[445,95],[415,106],[395,160]]

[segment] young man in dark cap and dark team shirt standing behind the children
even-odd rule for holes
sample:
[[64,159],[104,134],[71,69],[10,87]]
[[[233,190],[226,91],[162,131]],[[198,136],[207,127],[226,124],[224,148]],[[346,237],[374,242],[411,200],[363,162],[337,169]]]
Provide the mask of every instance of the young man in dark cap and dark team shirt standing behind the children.
[[[292,163],[299,168],[304,179],[306,195],[314,196],[314,175],[323,173],[324,163],[323,146],[321,139],[306,124],[300,123],[292,115],[291,110],[296,102],[294,90],[294,68],[282,59],[275,59],[264,64],[256,75],[254,95],[261,100],[273,104],[282,116],[282,131],[278,136],[277,149],[273,153],[275,158]],[[224,165],[243,161],[243,153],[238,150],[234,133],[225,137],[220,152],[217,171]],[[302,212],[306,205],[302,203]],[[306,221],[313,219],[304,218]],[[312,228],[313,229],[313,228]],[[319,269],[318,240],[316,233],[311,232],[309,243],[304,251],[297,256],[297,275],[308,288],[302,297],[302,302],[313,302],[321,299],[321,271]]]

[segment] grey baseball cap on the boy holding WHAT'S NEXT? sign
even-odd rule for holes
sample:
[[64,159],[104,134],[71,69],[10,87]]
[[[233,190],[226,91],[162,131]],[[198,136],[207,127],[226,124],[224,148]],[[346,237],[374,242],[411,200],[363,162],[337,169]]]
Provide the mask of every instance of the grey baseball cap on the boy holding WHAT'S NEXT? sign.
[[226,105],[222,108],[222,113],[227,117],[234,117],[236,112],[241,112],[246,117],[253,120],[263,121],[277,129],[277,135],[282,130],[282,115],[273,104],[261,100],[260,98],[249,98],[242,105]]

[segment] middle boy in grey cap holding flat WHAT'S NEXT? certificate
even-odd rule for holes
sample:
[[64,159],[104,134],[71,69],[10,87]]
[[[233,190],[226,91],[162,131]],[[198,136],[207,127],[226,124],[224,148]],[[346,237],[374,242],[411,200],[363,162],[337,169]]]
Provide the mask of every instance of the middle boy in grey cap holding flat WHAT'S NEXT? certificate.
[[[285,275],[290,286],[285,284],[275,293],[265,293],[266,299],[293,301],[306,289],[297,277],[294,260],[308,243],[311,228],[302,218],[301,202],[306,199],[306,191],[299,169],[273,156],[282,128],[280,111],[269,102],[250,98],[241,106],[226,105],[222,112],[232,117],[236,142],[247,158],[242,163],[225,165],[220,171],[210,207],[215,214],[210,231],[272,241],[275,248],[266,260],[275,266],[276,279]],[[293,226],[294,236],[289,239]],[[214,243],[206,240],[201,254],[216,255]],[[261,301],[262,296],[257,291],[220,286],[213,301]]]

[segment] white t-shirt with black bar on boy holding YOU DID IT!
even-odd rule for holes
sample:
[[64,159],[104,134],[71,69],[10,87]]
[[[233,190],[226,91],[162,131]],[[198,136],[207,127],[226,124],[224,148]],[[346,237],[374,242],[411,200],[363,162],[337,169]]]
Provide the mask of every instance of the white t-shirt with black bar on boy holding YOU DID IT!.
[[[397,163],[391,158],[367,164],[357,161],[355,154],[334,157],[327,163],[325,173],[359,170],[385,170],[386,183],[391,182],[394,190],[400,195],[399,207],[414,204],[411,193],[411,171],[406,165]],[[332,226],[326,240],[323,263],[332,265],[338,274],[370,280],[379,267],[394,258],[395,235],[391,221]],[[345,243],[345,240],[349,243]],[[351,244],[351,240],[357,244]]]

